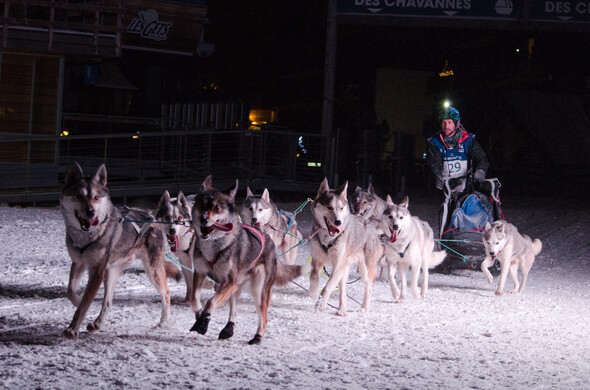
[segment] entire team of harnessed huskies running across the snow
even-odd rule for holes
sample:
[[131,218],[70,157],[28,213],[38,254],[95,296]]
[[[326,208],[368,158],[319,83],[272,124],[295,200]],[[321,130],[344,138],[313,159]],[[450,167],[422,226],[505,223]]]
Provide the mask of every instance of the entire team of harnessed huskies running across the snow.
[[[67,297],[76,306],[64,336],[78,337],[90,304],[103,284],[101,311],[87,325],[89,332],[100,330],[112,306],[117,279],[136,259],[141,260],[160,294],[159,325],[165,325],[170,317],[166,279],[181,277],[181,271],[166,260],[166,243],[184,274],[186,299],[196,317],[191,331],[205,334],[216,309],[229,301],[229,318],[219,339],[232,337],[238,298],[242,287],[249,285],[258,315],[256,333],[249,344],[259,344],[264,336],[273,286],[309,273],[309,294],[316,301],[315,308],[325,310],[330,295],[338,287],[337,315],[344,316],[352,267],[358,268],[364,283],[361,310],[368,311],[373,282],[380,268],[382,274],[388,273],[391,293],[399,303],[406,296],[410,268],[412,295],[426,297],[429,269],[446,257],[446,251],[435,249],[429,224],[410,213],[408,197],[395,204],[389,195],[385,200],[380,198],[372,185],[367,190],[357,187],[349,201],[348,183],[331,189],[324,179],[311,201],[313,229],[305,241],[295,215],[280,210],[271,201],[267,189],[258,196],[247,188],[240,208],[236,205],[237,191],[237,180],[231,188],[221,191],[208,176],[195,195],[179,192],[174,198],[166,191],[154,215],[151,210],[115,207],[109,196],[104,165],[93,176],[87,176],[74,163],[60,197],[66,247],[72,259]],[[311,242],[311,265],[295,265],[297,247],[307,241]],[[508,273],[515,284],[511,293],[524,291],[535,256],[541,251],[541,241],[521,235],[514,225],[503,220],[488,223],[482,241],[486,258],[481,268],[489,283],[493,277],[487,268],[496,260],[501,264],[496,295],[502,294]],[[319,276],[325,266],[331,267],[331,273],[320,291]],[[517,277],[519,267],[522,282]],[[398,270],[401,288],[395,278]],[[86,271],[88,282],[80,296],[78,290]],[[204,305],[200,297],[203,288],[214,289]]]

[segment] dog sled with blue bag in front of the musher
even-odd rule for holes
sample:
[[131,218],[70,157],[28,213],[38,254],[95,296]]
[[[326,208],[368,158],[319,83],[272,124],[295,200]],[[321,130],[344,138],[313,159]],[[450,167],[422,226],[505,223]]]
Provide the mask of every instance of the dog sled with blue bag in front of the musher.
[[[460,178],[465,186],[461,192],[451,191],[450,181],[444,183],[445,200],[439,215],[438,245],[447,250],[447,257],[437,268],[439,272],[453,269],[481,269],[485,259],[482,232],[487,222],[504,219],[500,202],[500,181],[497,178],[477,182]],[[496,273],[495,264],[490,271]]]

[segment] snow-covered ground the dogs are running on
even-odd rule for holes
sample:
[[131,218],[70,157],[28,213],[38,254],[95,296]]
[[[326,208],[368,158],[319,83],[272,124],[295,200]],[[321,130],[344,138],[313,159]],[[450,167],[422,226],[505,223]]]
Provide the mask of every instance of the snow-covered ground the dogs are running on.
[[[410,210],[431,224],[437,207],[410,194]],[[63,338],[74,307],[61,214],[0,206],[0,388],[587,389],[590,208],[513,198],[503,211],[543,241],[523,294],[496,297],[497,279],[488,285],[481,272],[463,270],[432,274],[429,297],[403,304],[378,281],[372,311],[362,313],[359,281],[348,288],[348,315],[337,317],[331,307],[314,311],[301,277],[301,287],[274,289],[266,336],[251,346],[257,320],[247,290],[232,339],[217,340],[227,305],[205,336],[188,331],[194,315],[183,281],[169,281],[169,327],[154,328],[159,297],[139,263],[121,276],[104,330],[90,334],[84,325],[78,340]],[[309,207],[298,221],[308,235]],[[309,245],[297,262],[308,258]],[[102,288],[87,321],[101,300]],[[337,305],[336,293],[330,302]]]

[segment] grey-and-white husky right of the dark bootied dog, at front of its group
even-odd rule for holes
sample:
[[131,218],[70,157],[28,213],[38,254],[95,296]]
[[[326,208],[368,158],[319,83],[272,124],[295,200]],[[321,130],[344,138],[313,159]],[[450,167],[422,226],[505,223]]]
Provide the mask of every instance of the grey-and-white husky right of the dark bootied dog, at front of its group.
[[314,233],[311,240],[309,293],[313,299],[318,298],[319,273],[325,265],[331,266],[332,274],[321,292],[316,309],[325,310],[328,298],[338,284],[340,306],[336,314],[340,316],[346,315],[346,282],[350,267],[355,264],[365,283],[361,310],[370,310],[377,262],[383,254],[383,245],[375,227],[364,226],[362,217],[350,214],[347,188],[348,182],[337,190],[331,190],[328,180],[324,179],[311,203]]

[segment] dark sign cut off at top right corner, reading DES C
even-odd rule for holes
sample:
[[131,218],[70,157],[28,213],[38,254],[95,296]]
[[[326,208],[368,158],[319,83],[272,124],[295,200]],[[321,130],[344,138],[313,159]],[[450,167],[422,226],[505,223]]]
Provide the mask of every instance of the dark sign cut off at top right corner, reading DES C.
[[590,0],[533,1],[533,19],[590,22]]

